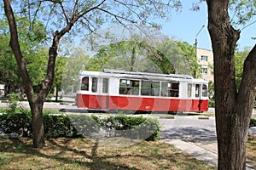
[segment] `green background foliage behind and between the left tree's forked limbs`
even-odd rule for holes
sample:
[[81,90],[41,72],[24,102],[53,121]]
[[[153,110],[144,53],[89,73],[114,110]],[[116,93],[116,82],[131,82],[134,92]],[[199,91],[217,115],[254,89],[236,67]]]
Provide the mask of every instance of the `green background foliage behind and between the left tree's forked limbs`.
[[[20,49],[23,54],[26,54],[26,66],[27,70],[32,78],[32,84],[34,87],[38,87],[41,80],[44,78],[44,71],[46,70],[45,64],[47,63],[47,51],[40,47],[41,42],[44,40],[45,33],[42,32],[42,24],[40,22],[35,22],[35,29],[33,30],[34,36],[32,36],[32,31],[27,31],[26,27],[29,26],[29,20],[26,18],[17,17],[17,26],[20,30]],[[7,91],[5,94],[10,94],[15,92],[16,88],[21,88],[21,97],[23,93],[23,86],[20,79],[20,71],[18,71],[15,56],[9,47],[9,31],[7,20],[0,20],[0,30],[1,30],[1,55],[0,55],[0,70],[1,70],[1,82],[5,84]],[[44,27],[43,27],[44,28]],[[27,38],[29,36],[29,38]],[[28,39],[33,39],[32,42],[28,42]]]

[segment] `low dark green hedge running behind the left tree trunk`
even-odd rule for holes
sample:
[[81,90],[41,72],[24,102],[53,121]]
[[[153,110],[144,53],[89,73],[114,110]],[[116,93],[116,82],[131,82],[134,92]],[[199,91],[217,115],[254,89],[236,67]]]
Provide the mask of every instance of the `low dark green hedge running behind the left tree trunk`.
[[[101,131],[102,130],[102,131]],[[111,116],[100,119],[86,115],[44,115],[46,138],[78,138],[96,136],[156,140],[160,124],[154,119],[131,116]],[[32,118],[28,110],[0,115],[0,134],[11,137],[32,137]]]

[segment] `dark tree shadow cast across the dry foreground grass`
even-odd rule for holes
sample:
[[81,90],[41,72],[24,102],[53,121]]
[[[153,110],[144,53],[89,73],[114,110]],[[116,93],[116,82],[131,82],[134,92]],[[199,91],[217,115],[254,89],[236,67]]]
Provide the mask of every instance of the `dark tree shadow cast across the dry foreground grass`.
[[[96,142],[94,146],[90,149],[90,153],[84,150],[77,150],[75,148],[71,148],[67,146],[67,144],[72,139],[63,139],[61,140],[61,143],[56,142],[55,139],[49,139],[47,142],[47,145],[43,149],[34,149],[32,148],[32,142],[31,139],[9,139],[6,142],[1,142],[0,139],[0,153],[1,152],[12,152],[17,153],[18,155],[15,156],[15,160],[26,160],[27,157],[39,157],[39,158],[46,158],[47,160],[54,160],[53,163],[48,162],[50,165],[47,167],[38,167],[39,169],[48,169],[52,168],[55,169],[55,167],[67,164],[75,164],[75,167],[83,167],[84,169],[137,169],[133,167],[127,167],[122,166],[120,164],[113,163],[111,161],[106,161],[106,158],[110,156],[97,156],[97,149],[98,149],[98,143]],[[56,153],[49,153],[47,150],[58,150]],[[14,156],[12,154],[12,156]],[[76,159],[74,157],[79,157],[82,159]],[[111,156],[111,157],[119,157],[119,156]],[[0,160],[3,159],[3,155],[0,156]],[[83,160],[90,161],[83,161]],[[2,160],[3,161],[3,160]],[[57,162],[56,162],[57,161]],[[37,160],[35,160],[37,162]],[[29,164],[29,162],[27,162]],[[2,169],[0,163],[0,169]],[[39,166],[39,165],[38,165]],[[31,166],[32,167],[32,166]],[[63,168],[64,168],[63,167]],[[15,168],[16,169],[16,168]],[[24,169],[22,166],[18,167],[18,169]],[[31,168],[33,169],[33,168]]]

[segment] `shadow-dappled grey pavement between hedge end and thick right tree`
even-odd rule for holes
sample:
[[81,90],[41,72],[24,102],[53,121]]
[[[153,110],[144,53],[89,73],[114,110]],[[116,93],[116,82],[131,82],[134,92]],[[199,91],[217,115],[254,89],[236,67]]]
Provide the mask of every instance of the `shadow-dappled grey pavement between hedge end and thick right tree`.
[[[218,146],[214,117],[176,116],[175,119],[161,121],[161,124],[160,138],[163,141],[217,167]],[[253,133],[256,135],[256,128]],[[255,161],[248,161],[247,169],[256,169]]]

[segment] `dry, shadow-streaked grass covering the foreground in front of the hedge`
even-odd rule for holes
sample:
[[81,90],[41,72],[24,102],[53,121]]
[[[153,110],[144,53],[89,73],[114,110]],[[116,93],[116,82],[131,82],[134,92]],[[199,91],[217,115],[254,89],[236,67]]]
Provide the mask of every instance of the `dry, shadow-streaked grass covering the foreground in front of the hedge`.
[[32,139],[0,138],[0,169],[214,169],[160,141],[49,139],[33,149]]

